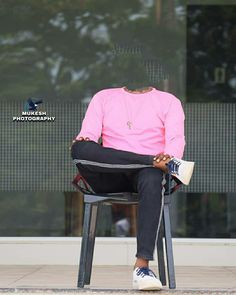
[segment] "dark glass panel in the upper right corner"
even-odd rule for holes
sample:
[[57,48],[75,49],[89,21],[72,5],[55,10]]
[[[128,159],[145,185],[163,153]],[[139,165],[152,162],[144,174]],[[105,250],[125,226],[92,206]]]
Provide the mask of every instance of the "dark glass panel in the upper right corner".
[[235,5],[188,7],[188,101],[235,102],[235,17]]

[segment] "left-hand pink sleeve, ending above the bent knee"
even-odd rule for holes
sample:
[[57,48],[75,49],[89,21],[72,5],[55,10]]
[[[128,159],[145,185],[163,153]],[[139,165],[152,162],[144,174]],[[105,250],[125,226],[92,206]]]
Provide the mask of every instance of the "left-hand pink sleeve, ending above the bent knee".
[[91,140],[97,142],[102,132],[103,110],[102,110],[103,96],[100,92],[96,93],[89,103],[82,128],[77,135],[79,137],[89,137]]

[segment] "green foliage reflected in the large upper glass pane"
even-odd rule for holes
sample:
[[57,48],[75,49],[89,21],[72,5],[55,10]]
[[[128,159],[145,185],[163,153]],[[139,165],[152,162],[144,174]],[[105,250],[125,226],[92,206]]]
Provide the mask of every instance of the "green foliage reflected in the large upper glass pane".
[[184,1],[161,2],[158,23],[154,1],[1,0],[1,99],[78,101],[78,96],[121,85],[122,73],[132,76],[134,70],[115,68],[117,44],[141,44],[144,58],[157,58],[178,74],[184,58],[184,18],[170,7],[184,11]]

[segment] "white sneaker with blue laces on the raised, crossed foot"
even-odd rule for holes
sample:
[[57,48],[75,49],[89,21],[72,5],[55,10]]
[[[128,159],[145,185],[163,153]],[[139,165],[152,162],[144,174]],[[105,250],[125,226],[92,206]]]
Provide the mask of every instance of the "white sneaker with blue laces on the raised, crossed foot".
[[194,162],[172,158],[167,164],[169,173],[188,185],[193,174]]

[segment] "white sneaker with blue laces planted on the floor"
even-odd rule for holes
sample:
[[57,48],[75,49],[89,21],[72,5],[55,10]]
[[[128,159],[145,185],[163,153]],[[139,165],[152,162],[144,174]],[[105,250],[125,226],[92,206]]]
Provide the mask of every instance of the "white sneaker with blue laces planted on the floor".
[[133,272],[133,288],[138,290],[161,290],[161,281],[147,267],[136,267]]

